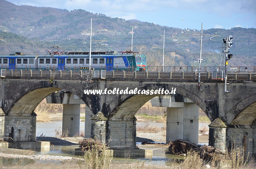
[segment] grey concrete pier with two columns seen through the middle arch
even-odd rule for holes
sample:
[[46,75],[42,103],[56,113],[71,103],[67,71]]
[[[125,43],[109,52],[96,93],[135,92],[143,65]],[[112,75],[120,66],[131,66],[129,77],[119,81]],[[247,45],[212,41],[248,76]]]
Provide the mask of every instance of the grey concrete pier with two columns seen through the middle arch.
[[167,107],[166,143],[177,139],[198,143],[199,107],[193,101],[184,97],[175,100],[170,95],[160,95],[151,99],[151,104]]

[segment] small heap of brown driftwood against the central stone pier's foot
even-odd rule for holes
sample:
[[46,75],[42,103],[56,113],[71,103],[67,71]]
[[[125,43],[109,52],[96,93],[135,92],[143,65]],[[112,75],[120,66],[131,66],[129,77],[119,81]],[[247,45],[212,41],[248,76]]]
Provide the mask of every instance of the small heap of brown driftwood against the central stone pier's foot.
[[94,140],[92,138],[84,138],[84,140],[79,141],[79,148],[81,148],[83,151],[92,150],[93,148],[96,148],[97,150],[102,150],[103,144],[100,143],[99,140]]

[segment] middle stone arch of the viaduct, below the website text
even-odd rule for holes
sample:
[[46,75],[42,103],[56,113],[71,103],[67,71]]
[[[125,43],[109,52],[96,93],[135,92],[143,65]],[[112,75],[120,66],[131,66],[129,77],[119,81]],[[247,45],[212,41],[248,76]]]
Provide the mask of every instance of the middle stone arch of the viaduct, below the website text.
[[[192,92],[192,90],[185,89],[185,87],[181,85],[169,85],[169,84],[146,84],[145,86],[137,86],[138,90],[151,90],[151,89],[159,89],[164,88],[169,91],[172,88],[178,88],[177,93],[187,97],[196,103],[203,111],[206,113],[208,118],[213,121],[216,118],[216,114],[213,112],[212,108],[201,99],[198,94]],[[195,86],[193,86],[195,87]],[[132,119],[136,112],[142,107],[148,100],[154,98],[156,95],[127,95],[126,98],[116,97],[113,100],[113,103],[116,103],[116,107],[113,109],[111,113],[108,114],[110,119]]]

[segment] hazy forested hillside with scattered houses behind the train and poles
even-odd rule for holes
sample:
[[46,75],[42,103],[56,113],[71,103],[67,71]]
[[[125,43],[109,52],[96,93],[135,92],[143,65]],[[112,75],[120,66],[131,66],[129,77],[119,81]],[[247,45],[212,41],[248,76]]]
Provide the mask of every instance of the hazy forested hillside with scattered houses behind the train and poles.
[[[58,45],[65,51],[89,51],[92,18],[92,51],[130,50],[133,27],[133,51],[146,54],[149,62],[161,65],[165,31],[165,64],[198,65],[196,61],[200,52],[201,24],[198,28],[167,27],[138,20],[111,18],[81,9],[68,11],[50,7],[17,6],[4,0],[0,0],[0,9],[0,38],[7,42],[5,45],[1,41],[0,54],[47,54],[46,49],[53,45]],[[218,36],[213,38],[203,35],[203,66],[218,65],[223,38],[229,35],[233,36],[233,46],[229,49],[233,58],[229,64],[256,65],[256,29],[235,27],[229,30],[203,30],[204,34],[216,32]]]

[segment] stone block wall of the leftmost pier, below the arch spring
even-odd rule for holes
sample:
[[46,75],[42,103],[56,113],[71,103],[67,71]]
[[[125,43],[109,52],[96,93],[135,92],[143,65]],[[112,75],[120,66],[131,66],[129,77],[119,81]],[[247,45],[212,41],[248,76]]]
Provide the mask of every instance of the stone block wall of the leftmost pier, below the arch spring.
[[0,116],[0,136],[6,141],[36,141],[36,116]]

